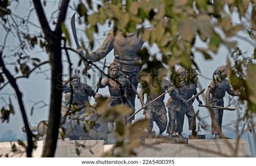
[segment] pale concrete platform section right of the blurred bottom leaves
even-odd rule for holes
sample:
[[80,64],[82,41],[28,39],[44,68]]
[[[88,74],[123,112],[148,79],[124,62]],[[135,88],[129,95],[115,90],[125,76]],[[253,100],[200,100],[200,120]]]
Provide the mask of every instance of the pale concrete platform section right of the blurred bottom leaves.
[[136,157],[249,157],[250,146],[247,139],[236,140],[188,140],[187,144],[154,144],[141,146],[135,151]]

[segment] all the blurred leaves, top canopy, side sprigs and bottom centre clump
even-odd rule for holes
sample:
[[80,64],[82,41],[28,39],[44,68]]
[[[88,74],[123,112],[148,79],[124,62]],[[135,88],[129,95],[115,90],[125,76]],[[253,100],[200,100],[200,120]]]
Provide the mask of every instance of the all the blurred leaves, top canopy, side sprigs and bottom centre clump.
[[[42,32],[31,34],[28,28],[23,28],[27,27],[28,20],[22,19],[15,22],[11,17],[10,3],[11,1],[8,0],[0,1],[0,22],[4,25],[6,33],[12,31],[17,35],[18,49],[12,55],[17,59],[14,71],[16,74],[26,76],[32,71],[32,66],[36,67],[41,63],[41,59],[31,56],[27,52],[41,48],[49,53],[49,47]],[[256,50],[252,56],[246,57],[234,41],[241,31],[248,34],[251,39],[256,39],[255,0],[113,0],[102,1],[97,5],[93,3],[90,0],[79,1],[76,8],[80,16],[80,23],[86,25],[85,34],[90,43],[90,48],[85,50],[86,53],[91,51],[95,45],[93,34],[98,33],[99,25],[113,25],[114,33],[120,31],[123,36],[138,29],[138,35],[143,41],[149,43],[150,46],[156,45],[161,56],[160,58],[157,58],[156,55],[152,56],[146,48],[139,51],[138,55],[142,58],[143,64],[147,66],[143,73],[149,75],[153,69],[158,73],[159,69],[168,65],[172,73],[171,78],[174,78],[176,77],[174,66],[177,64],[199,70],[198,64],[194,61],[195,51],[200,52],[206,60],[210,60],[214,54],[218,53],[221,45],[225,46],[233,52],[231,58],[234,65],[231,66],[231,62],[229,64],[231,85],[241,92],[240,100],[248,102],[247,113],[256,112],[256,78],[254,74]],[[46,2],[43,1],[43,4],[45,6]],[[237,13],[241,22],[233,23],[233,13]],[[246,20],[246,24],[244,24],[244,20]],[[71,45],[70,35],[64,23],[62,23],[61,29],[64,39]],[[206,47],[196,46],[197,40],[203,42]],[[83,45],[83,48],[86,47]],[[4,58],[6,58],[5,55]],[[147,92],[151,91],[152,85],[156,85],[155,78],[161,79],[155,75],[145,78],[144,80],[140,78],[140,81],[144,84],[143,87],[148,87]],[[0,73],[0,85],[5,81],[4,74]],[[175,82],[174,85],[176,85]],[[73,108],[74,112],[71,114],[75,114],[79,109],[75,105]],[[123,119],[130,114],[131,108],[123,105],[108,108],[106,99],[98,103],[96,112],[103,114],[109,121],[117,122],[118,142],[109,155],[135,155],[132,148],[139,146],[140,134],[147,122],[142,120],[131,126],[125,126]],[[8,108],[1,108],[1,120],[8,122],[10,114],[14,114],[11,102]],[[92,125],[89,124],[89,126]],[[35,140],[37,140],[36,137]],[[78,150],[77,153],[79,153]]]

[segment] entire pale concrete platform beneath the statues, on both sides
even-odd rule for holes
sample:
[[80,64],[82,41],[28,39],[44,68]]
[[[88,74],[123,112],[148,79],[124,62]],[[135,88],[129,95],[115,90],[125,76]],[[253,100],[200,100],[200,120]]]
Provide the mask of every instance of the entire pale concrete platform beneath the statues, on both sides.
[[[145,139],[146,141],[155,141],[158,144],[144,144],[136,151],[136,157],[250,157],[250,146],[247,139],[241,139],[239,142],[232,139],[208,139],[208,140],[188,140],[187,143],[173,143],[174,139]],[[18,149],[17,142],[14,142]],[[76,144],[83,144],[77,146],[80,156],[76,153]],[[238,144],[238,148],[237,148]],[[33,157],[41,157],[43,150],[43,141],[38,141],[38,148],[33,151]],[[56,157],[101,157],[107,151],[112,150],[114,144],[104,144],[104,140],[82,140],[69,141],[59,140],[57,144]],[[237,149],[237,153],[235,153]],[[5,157],[5,154],[11,151],[10,142],[0,143],[0,156]],[[13,153],[9,153],[12,156]],[[25,157],[23,154],[15,154],[12,157]]]

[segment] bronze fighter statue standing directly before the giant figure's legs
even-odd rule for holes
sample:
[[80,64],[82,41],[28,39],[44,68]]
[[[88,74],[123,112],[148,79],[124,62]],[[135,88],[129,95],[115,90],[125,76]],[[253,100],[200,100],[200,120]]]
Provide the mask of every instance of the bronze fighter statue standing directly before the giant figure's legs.
[[[116,106],[118,104],[125,103],[127,106],[131,107],[134,113],[135,109],[132,103],[127,100],[127,95],[129,91],[133,91],[133,93],[138,94],[136,87],[131,85],[131,82],[127,78],[127,76],[120,71],[121,65],[119,63],[112,63],[109,67],[108,75],[109,77],[105,77],[104,79],[99,81],[99,88],[104,88],[106,86],[109,87],[110,93],[110,106]],[[132,89],[130,89],[130,85]],[[129,116],[127,116],[129,117]],[[134,117],[133,117],[134,118]],[[127,121],[127,123],[131,123],[132,119]]]

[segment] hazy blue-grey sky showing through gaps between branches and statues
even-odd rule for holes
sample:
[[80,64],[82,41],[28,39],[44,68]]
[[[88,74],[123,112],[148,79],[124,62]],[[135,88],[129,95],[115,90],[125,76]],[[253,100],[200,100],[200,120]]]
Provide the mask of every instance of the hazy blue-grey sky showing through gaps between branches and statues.
[[[21,3],[22,2],[22,3]],[[20,17],[26,17],[29,13],[29,10],[31,8],[33,8],[32,4],[30,4],[28,1],[21,1],[19,3],[19,5],[17,5],[16,2],[12,2],[11,4],[11,9],[12,12],[15,13],[16,15],[20,16]],[[47,5],[46,8],[44,9],[46,11],[46,15],[48,17],[48,20],[50,20],[51,17],[51,13],[53,11],[55,11],[58,8],[58,3],[53,2],[53,1],[46,1]],[[76,1],[72,1],[70,3],[70,6],[72,6],[73,9],[75,9],[75,3]],[[71,35],[71,42],[72,42],[72,47],[74,49],[76,49],[75,46],[75,42],[73,41],[73,37],[72,37],[72,33],[71,33],[71,27],[70,27],[70,19],[73,15],[74,11],[69,9],[68,10],[68,14],[67,14],[67,19],[66,19],[66,26],[69,29],[70,35]],[[56,15],[54,15],[56,16]],[[14,17],[16,20],[16,17]],[[38,23],[38,18],[36,16],[36,12],[35,10],[32,11],[32,14],[30,16],[30,22],[35,23],[37,25],[39,25]],[[233,14],[233,21],[238,23],[240,22],[238,19],[238,15],[235,13]],[[52,26],[52,23],[51,27]],[[3,30],[2,25],[1,26],[1,31],[0,31],[0,42],[1,44],[3,43],[3,38],[5,36],[5,31]],[[40,25],[39,25],[40,26]],[[21,27],[23,28],[23,27]],[[77,25],[78,29],[84,29],[84,26],[79,26]],[[34,33],[34,32],[40,32],[40,29],[38,29],[35,26],[32,26],[29,24],[29,29],[30,29],[30,33]],[[102,43],[103,40],[105,38],[105,36],[103,35],[105,31],[109,31],[110,27],[107,26],[99,26],[99,34],[95,35],[95,38],[98,40],[98,42],[95,43],[95,49],[97,49]],[[83,38],[84,40],[86,40],[85,34],[82,31],[77,31],[78,33],[78,38],[81,39]],[[106,32],[107,33],[107,32]],[[245,33],[240,32],[239,33],[241,36],[244,36],[248,39],[250,39],[248,36],[246,36]],[[14,47],[17,45],[17,36],[10,34],[8,36],[7,39],[7,46],[6,49],[4,50],[4,54],[9,55],[12,52],[10,52],[10,50],[14,49]],[[204,43],[201,43],[200,40],[197,40],[196,45],[198,47],[203,47]],[[147,46],[147,44],[144,44],[144,46]],[[240,47],[240,49],[242,50],[242,52],[246,52],[246,54],[248,56],[251,56],[253,53],[253,46],[248,44],[247,42],[245,42],[244,40],[238,40],[238,46]],[[150,49],[151,54],[157,53],[157,47],[153,46]],[[33,52],[29,52],[29,54],[31,54],[31,56],[35,56],[35,57],[40,57],[43,60],[46,60],[49,58],[49,56],[42,51],[41,48],[36,47],[36,49],[33,50]],[[73,63],[74,68],[77,68],[77,61],[78,61],[78,56],[72,52],[70,52],[71,55],[71,60]],[[230,53],[228,53],[226,47],[224,46],[220,46],[217,56],[212,56],[213,59],[212,60],[205,60],[204,57],[200,54],[200,53],[194,53],[195,55],[195,60],[200,68],[200,71],[202,75],[204,75],[207,78],[212,78],[212,73],[216,70],[216,68],[220,65],[225,65],[226,61],[227,61],[227,57],[229,57]],[[160,56],[160,55],[159,55]],[[63,54],[63,60],[66,60],[65,55]],[[14,61],[13,59],[9,58],[8,59],[9,62]],[[109,65],[111,62],[113,61],[113,51],[111,51],[108,55],[107,55],[107,65]],[[96,63],[98,66],[101,66],[100,63]],[[8,65],[9,70],[14,71],[14,67],[13,65]],[[48,70],[50,68],[49,65],[44,65],[41,70]],[[101,67],[100,67],[101,68]],[[38,70],[36,70],[35,72],[33,72],[33,74],[30,75],[29,79],[19,79],[18,80],[18,85],[19,88],[21,89],[21,92],[23,93],[23,101],[25,103],[25,108],[26,108],[26,112],[28,115],[28,119],[31,122],[32,126],[36,126],[37,123],[41,120],[47,120],[48,119],[48,112],[49,112],[49,107],[43,107],[43,108],[35,108],[33,111],[33,115],[30,115],[30,109],[33,105],[33,102],[38,102],[38,101],[44,101],[45,103],[49,103],[49,98],[50,98],[50,80],[46,79],[46,76],[43,75],[42,73],[37,73]],[[68,74],[68,63],[64,63],[64,73]],[[93,73],[92,70],[89,71],[89,73]],[[96,72],[98,73],[98,72]],[[48,75],[48,77],[50,78],[50,72],[46,72],[46,75]],[[96,79],[98,80],[98,78]],[[208,85],[210,84],[210,80],[199,77],[199,82],[202,85],[202,88],[207,88]],[[138,89],[139,91],[139,89]],[[4,93],[11,93],[14,94],[14,90],[10,87],[10,86],[6,86],[1,92],[0,92],[0,108],[2,108],[2,106],[5,105],[4,100],[1,99],[1,97],[5,98],[5,100],[8,102],[8,95],[4,95]],[[109,95],[109,92],[107,90],[107,88],[104,89],[100,89],[99,93],[103,94],[103,95]],[[226,94],[225,96],[225,101],[227,101],[228,99],[228,94]],[[167,101],[167,99],[169,98],[168,95],[165,96],[165,102]],[[204,95],[201,95],[199,97],[203,103],[204,102]],[[15,108],[15,115],[11,115],[10,116],[10,122],[9,123],[0,123],[0,137],[2,136],[2,134],[4,132],[6,132],[6,130],[14,130],[14,132],[19,136],[21,136],[22,132],[21,132],[21,128],[23,127],[23,122],[22,122],[22,118],[21,118],[21,114],[20,114],[20,110],[19,107],[17,105],[17,100],[15,99],[15,97],[12,95],[11,96],[12,99],[12,103],[14,104],[14,108]],[[94,102],[93,100],[91,100],[92,102]],[[226,102],[227,103],[227,102]],[[198,102],[195,101],[194,102],[194,109],[198,110]],[[38,106],[42,106],[42,105],[38,105]],[[138,99],[136,99],[136,110],[138,110],[140,108],[140,102]],[[200,107],[200,112],[199,112],[199,116],[200,117],[206,117],[209,115],[208,110],[205,108],[201,108]],[[143,111],[142,111],[143,112]],[[142,119],[144,118],[142,112],[138,113],[136,115],[136,119]],[[223,126],[225,126],[226,124],[229,124],[231,122],[233,122],[233,120],[237,119],[237,110],[235,110],[234,112],[231,111],[225,111],[224,112],[224,119],[223,119]],[[211,123],[211,119],[210,117],[207,117],[206,119],[204,119],[205,122],[207,122],[208,125],[210,125]],[[230,126],[231,127],[231,126]],[[158,132],[158,128],[156,127],[156,124],[154,123],[154,129]],[[225,128],[224,127],[224,131],[225,130],[231,130],[230,128]],[[184,132],[187,133],[188,132],[188,122],[187,122],[187,118],[185,117],[185,122],[184,122]],[[204,132],[204,133],[211,133],[211,129],[209,128],[208,131]]]

